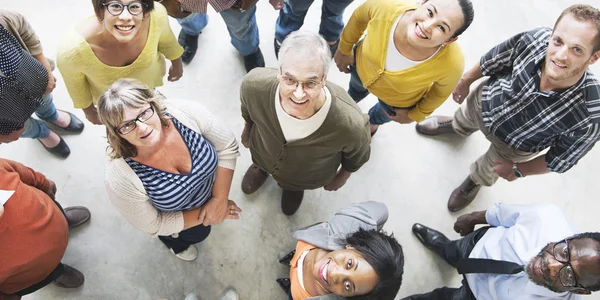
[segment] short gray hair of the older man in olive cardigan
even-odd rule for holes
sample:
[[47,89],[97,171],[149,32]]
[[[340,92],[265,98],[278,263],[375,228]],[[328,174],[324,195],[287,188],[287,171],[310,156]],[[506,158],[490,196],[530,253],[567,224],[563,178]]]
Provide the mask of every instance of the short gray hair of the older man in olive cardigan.
[[323,64],[323,76],[327,76],[329,72],[329,64],[331,63],[331,50],[327,41],[314,32],[306,30],[298,30],[288,35],[279,50],[279,67],[287,55],[300,56],[308,63],[314,63],[315,60],[321,61]]

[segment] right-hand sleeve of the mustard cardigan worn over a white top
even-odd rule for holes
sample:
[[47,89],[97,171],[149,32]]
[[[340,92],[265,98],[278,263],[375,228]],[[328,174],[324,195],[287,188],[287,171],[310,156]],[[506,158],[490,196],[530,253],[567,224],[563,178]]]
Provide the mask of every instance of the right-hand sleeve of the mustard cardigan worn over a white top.
[[448,54],[444,58],[447,62],[443,64],[446,72],[444,76],[435,81],[429,91],[417,104],[408,111],[408,117],[414,121],[421,122],[431,115],[435,109],[440,107],[452,94],[458,84],[465,68],[464,56],[458,44],[450,44]]

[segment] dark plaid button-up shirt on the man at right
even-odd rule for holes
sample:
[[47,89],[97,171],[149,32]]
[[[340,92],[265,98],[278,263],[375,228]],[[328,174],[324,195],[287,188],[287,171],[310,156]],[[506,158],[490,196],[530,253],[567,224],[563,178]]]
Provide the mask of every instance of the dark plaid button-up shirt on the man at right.
[[486,128],[525,152],[548,149],[546,166],[562,173],[600,139],[600,83],[587,70],[562,92],[540,91],[552,30],[523,32],[494,47],[480,60],[490,76],[482,92]]

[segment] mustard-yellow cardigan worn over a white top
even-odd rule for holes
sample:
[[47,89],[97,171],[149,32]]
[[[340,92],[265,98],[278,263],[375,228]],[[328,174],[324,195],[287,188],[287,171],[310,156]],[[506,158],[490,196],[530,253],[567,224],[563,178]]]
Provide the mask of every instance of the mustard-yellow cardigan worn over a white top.
[[339,49],[352,54],[352,47],[367,30],[356,49],[356,70],[364,87],[390,106],[410,107],[408,116],[419,122],[450,96],[464,70],[464,57],[460,46],[451,43],[416,66],[397,72],[385,70],[394,21],[415,8],[414,0],[367,0],[350,17]]

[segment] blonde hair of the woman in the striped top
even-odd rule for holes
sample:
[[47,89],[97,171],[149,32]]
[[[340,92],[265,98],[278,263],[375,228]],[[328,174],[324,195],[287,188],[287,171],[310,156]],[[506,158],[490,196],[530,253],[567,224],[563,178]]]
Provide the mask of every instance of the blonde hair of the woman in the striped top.
[[169,116],[163,104],[164,97],[155,93],[136,79],[123,78],[115,81],[98,100],[98,118],[106,126],[106,138],[110,145],[110,157],[135,157],[137,149],[121,137],[116,127],[123,122],[126,108],[141,108],[150,104],[158,114],[162,126],[169,125]]

